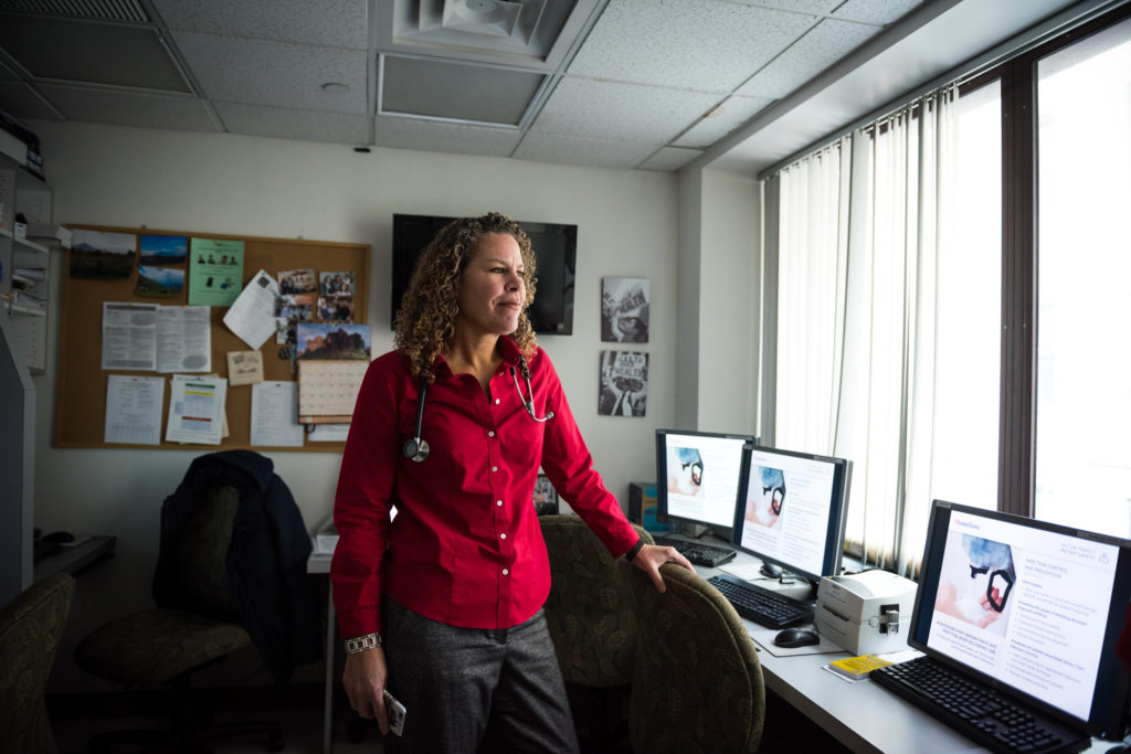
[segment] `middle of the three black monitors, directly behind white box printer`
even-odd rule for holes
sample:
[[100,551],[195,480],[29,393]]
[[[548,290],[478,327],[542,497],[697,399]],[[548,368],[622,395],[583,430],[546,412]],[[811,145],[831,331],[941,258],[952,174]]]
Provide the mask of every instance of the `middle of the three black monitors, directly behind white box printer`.
[[811,584],[840,572],[852,462],[753,445],[732,544]]

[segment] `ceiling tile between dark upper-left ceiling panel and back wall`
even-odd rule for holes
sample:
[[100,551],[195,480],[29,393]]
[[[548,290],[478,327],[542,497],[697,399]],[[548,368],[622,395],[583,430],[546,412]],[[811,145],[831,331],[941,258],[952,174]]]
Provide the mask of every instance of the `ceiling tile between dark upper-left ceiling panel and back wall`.
[[205,103],[196,97],[66,84],[41,84],[38,88],[63,115],[76,121],[176,131],[219,130]]

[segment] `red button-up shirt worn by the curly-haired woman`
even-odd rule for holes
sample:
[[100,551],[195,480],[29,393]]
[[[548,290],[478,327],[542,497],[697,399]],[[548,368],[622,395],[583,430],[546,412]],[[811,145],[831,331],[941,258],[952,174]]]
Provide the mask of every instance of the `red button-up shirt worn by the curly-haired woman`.
[[431,452],[422,462],[402,453],[415,434],[420,397],[408,359],[390,352],[365,373],[334,502],[339,539],[330,579],[342,635],[382,630],[383,595],[455,626],[507,629],[534,615],[550,593],[533,503],[539,465],[613,556],[636,544],[593,468],[549,356],[539,348],[529,361],[535,414],[554,414],[539,423],[511,376],[513,367],[528,396],[518,349],[506,337],[500,344],[490,396],[473,375],[455,375],[438,359],[421,431]]

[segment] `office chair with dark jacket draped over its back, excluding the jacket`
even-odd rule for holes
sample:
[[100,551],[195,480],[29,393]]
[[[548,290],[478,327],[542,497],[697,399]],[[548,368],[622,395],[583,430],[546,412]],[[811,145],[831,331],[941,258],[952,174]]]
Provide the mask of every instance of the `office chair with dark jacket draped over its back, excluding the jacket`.
[[126,687],[173,688],[170,729],[101,734],[90,739],[90,752],[109,752],[114,745],[207,751],[207,742],[248,736],[262,737],[268,751],[283,749],[278,722],[205,727],[201,720],[208,719],[207,713],[192,707],[191,676],[251,644],[240,625],[225,562],[238,508],[234,487],[205,489],[178,539],[176,577],[196,609],[157,608],[115,618],[76,648],[76,664],[95,676]]

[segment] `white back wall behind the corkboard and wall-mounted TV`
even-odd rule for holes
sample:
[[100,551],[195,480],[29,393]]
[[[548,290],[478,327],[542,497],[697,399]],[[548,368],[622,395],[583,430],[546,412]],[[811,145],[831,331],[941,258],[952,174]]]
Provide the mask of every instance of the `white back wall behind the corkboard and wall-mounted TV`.
[[[469,215],[495,209],[517,219],[579,226],[572,336],[541,345],[561,373],[570,404],[608,488],[627,505],[628,484],[655,477],[657,427],[674,421],[676,179],[511,159],[293,142],[231,135],[35,123],[60,223],[232,233],[372,246],[369,321],[374,352],[389,331],[394,213]],[[60,260],[53,260],[59,278]],[[651,281],[647,416],[597,416],[603,276]],[[118,554],[78,583],[60,651],[110,617],[150,605],[158,512],[191,450],[94,450],[52,447],[59,301],[51,312],[50,364],[36,376],[36,526],[114,534]],[[102,383],[105,374],[86,375]],[[337,453],[268,453],[313,530],[330,513]],[[53,691],[92,685],[57,662]]]

